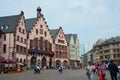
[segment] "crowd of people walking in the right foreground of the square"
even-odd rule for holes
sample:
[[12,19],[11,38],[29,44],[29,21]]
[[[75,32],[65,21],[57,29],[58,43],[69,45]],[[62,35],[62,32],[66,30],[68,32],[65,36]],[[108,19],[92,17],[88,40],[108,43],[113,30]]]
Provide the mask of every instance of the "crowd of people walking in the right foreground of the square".
[[118,65],[114,61],[110,61],[107,65],[104,63],[93,64],[91,61],[88,62],[86,67],[86,75],[88,80],[94,80],[93,76],[97,75],[99,80],[107,80],[106,70],[109,71],[111,80],[118,80],[117,73],[119,73]]

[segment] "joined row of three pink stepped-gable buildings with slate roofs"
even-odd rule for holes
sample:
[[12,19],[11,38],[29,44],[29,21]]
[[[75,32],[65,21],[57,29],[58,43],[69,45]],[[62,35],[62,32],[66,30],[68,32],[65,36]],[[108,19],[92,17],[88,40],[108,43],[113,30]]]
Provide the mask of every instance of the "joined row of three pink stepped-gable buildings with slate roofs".
[[29,67],[35,63],[48,67],[61,64],[65,68],[70,65],[70,47],[62,27],[50,30],[40,7],[35,18],[25,19],[23,11],[0,17],[0,30],[5,33],[0,40],[0,52],[5,59],[27,63]]

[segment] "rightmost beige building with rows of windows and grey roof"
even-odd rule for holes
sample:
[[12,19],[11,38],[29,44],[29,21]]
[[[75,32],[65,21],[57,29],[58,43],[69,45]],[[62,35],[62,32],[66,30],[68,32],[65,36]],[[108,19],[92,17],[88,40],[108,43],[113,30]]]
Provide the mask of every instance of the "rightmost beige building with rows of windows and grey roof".
[[113,60],[120,64],[120,37],[112,37],[101,45],[94,46],[99,55],[100,62],[107,63]]

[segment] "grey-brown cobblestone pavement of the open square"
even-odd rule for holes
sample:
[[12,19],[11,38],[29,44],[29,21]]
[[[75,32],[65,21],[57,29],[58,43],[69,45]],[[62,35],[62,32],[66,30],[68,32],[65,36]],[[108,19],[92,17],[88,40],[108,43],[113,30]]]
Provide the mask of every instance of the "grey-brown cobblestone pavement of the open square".
[[[107,80],[110,80],[109,73],[106,75]],[[64,70],[62,74],[57,70],[43,70],[40,74],[34,74],[33,71],[27,71],[15,74],[0,74],[0,80],[87,80],[85,70]],[[98,76],[94,75],[94,80],[99,80]]]

